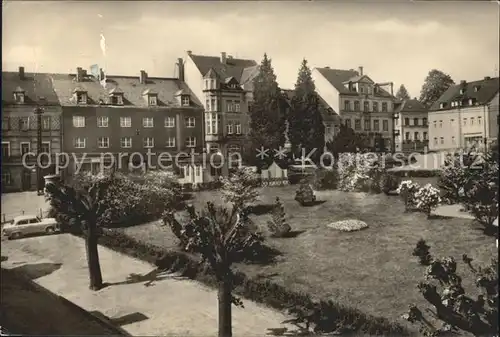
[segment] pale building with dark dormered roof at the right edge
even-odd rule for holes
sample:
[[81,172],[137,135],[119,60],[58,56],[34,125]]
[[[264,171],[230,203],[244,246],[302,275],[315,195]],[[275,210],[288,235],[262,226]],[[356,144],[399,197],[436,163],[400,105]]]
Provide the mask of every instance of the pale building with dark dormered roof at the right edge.
[[499,78],[451,86],[429,111],[429,148],[482,148],[498,138]]

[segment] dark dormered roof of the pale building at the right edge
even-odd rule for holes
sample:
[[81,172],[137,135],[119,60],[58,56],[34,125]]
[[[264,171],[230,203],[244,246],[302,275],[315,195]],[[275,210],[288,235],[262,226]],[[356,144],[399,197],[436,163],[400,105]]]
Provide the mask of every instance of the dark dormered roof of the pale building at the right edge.
[[[475,87],[478,90],[475,90]],[[464,88],[465,93],[461,94],[460,89]],[[466,82],[465,84],[456,84],[446,90],[439,99],[431,105],[430,110],[443,110],[440,108],[441,103],[446,103],[446,109],[453,109],[451,107],[452,101],[475,99],[479,105],[489,103],[493,97],[498,93],[500,88],[500,78],[494,77],[489,79],[482,79],[474,82]]]

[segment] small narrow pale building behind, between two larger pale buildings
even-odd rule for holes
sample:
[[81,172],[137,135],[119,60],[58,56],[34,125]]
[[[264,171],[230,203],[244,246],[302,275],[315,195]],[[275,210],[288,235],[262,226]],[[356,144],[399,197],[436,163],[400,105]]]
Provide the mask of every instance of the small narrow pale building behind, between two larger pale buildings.
[[396,151],[426,152],[429,146],[428,109],[416,98],[395,105],[399,118],[395,119]]

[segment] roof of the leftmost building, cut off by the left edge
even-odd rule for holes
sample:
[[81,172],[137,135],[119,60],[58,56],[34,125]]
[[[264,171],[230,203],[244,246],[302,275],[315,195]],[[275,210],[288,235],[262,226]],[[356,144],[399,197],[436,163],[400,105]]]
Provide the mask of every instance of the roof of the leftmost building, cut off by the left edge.
[[59,104],[49,74],[25,73],[24,79],[21,79],[18,72],[2,72],[2,103],[16,104],[15,91],[24,91],[25,104],[37,104],[39,97],[45,98],[45,104]]

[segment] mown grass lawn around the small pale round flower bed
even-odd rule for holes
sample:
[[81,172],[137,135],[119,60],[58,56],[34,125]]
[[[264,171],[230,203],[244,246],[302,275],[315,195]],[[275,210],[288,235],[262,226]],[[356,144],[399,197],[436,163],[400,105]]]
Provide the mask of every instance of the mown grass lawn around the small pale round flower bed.
[[[293,200],[296,188],[263,188],[259,203],[273,203],[279,196],[292,229],[305,232],[294,238],[268,238],[267,244],[283,253],[278,261],[267,266],[240,264],[238,270],[401,322],[409,304],[425,304],[417,290],[424,267],[411,256],[419,239],[427,241],[433,255],[453,256],[459,262],[466,287],[471,286],[471,278],[461,263],[462,254],[481,263],[497,255],[494,238],[474,228],[471,220],[429,220],[423,214],[404,213],[398,197],[384,194],[320,191],[316,196],[324,203],[301,207]],[[219,193],[208,191],[196,193],[193,203],[202,205],[207,200],[222,202]],[[269,217],[253,219],[265,230]],[[326,227],[345,219],[359,219],[370,227],[351,233]],[[136,239],[176,248],[175,237],[158,222],[123,230]]]

